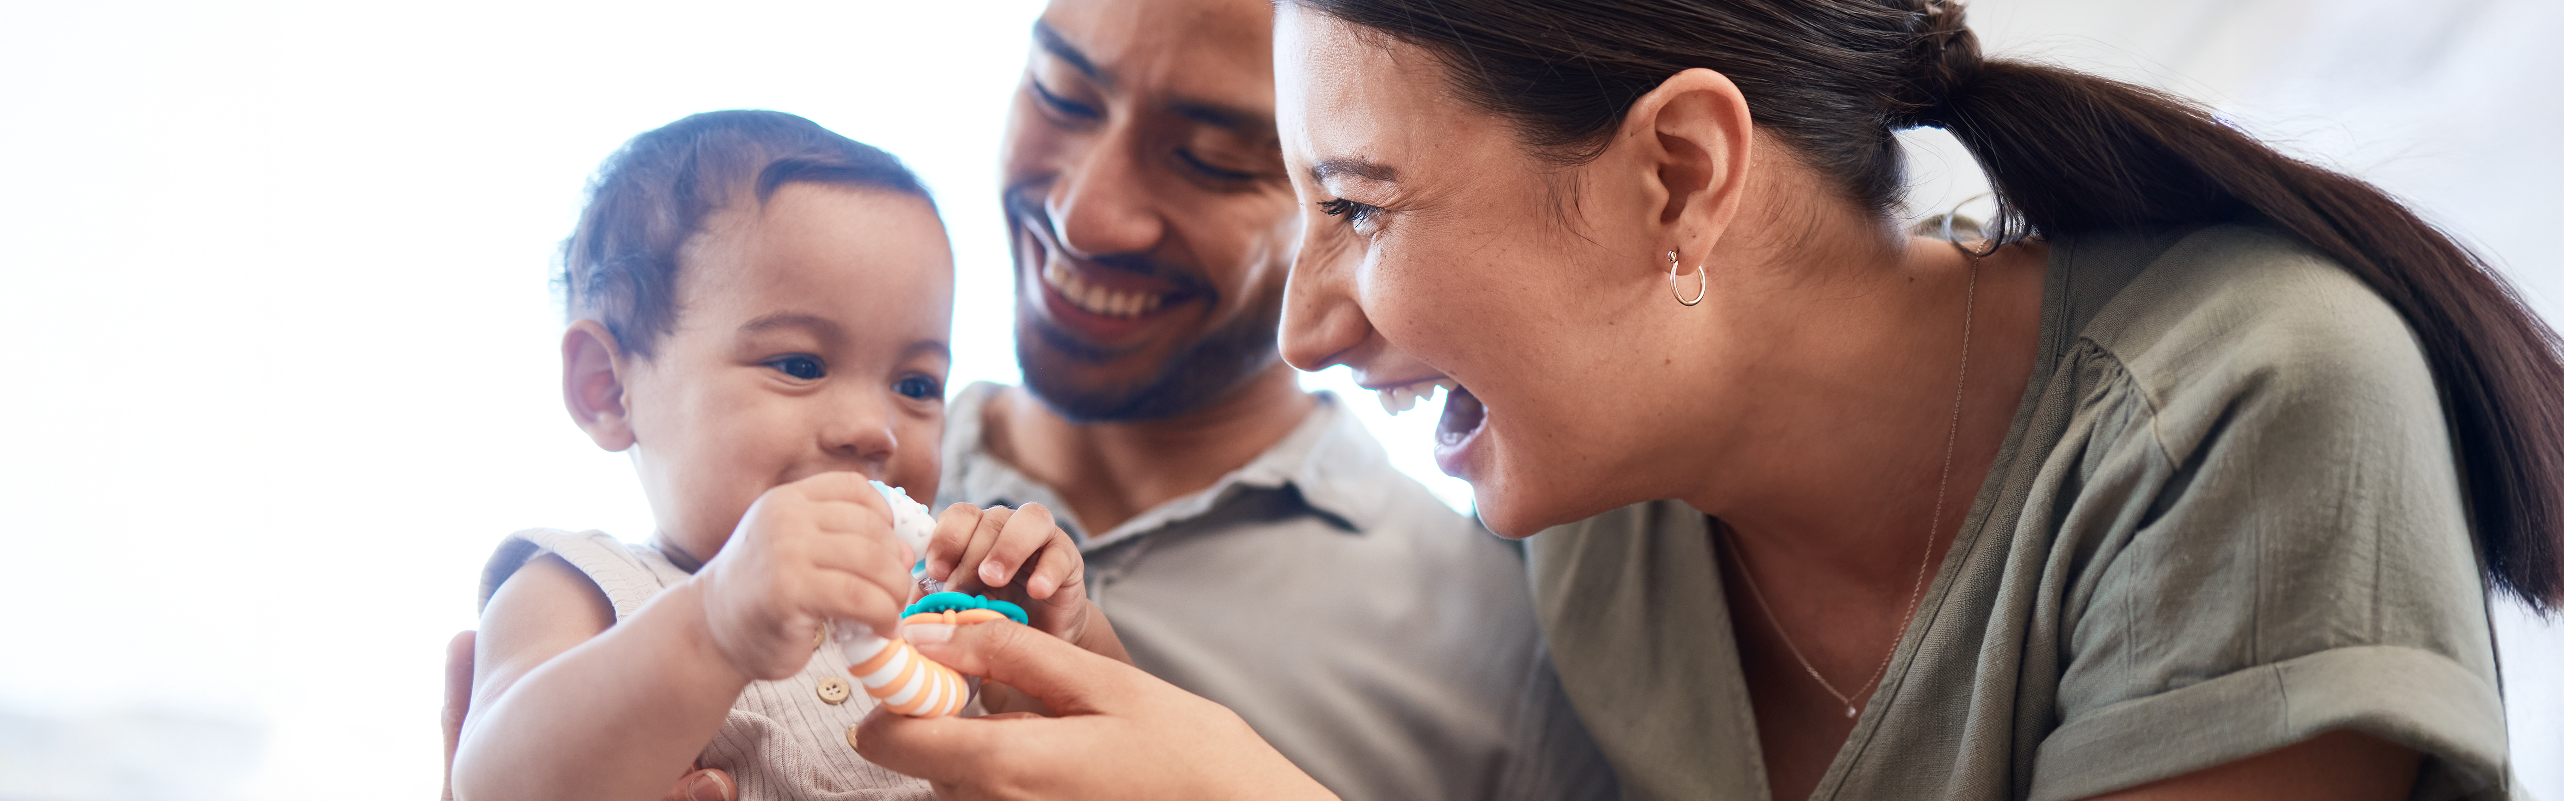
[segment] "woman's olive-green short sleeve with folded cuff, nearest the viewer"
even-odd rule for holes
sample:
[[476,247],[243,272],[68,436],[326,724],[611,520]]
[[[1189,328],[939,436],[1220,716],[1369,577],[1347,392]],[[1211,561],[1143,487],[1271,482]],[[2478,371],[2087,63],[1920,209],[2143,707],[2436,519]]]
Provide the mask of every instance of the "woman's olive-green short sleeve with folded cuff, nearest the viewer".
[[2320,300],[2185,362],[2187,385],[2133,365],[2146,457],[2100,480],[2156,490],[2133,529],[2085,539],[2031,798],[2333,729],[2423,752],[2413,798],[2502,798],[2485,583],[2428,367],[2400,321]]

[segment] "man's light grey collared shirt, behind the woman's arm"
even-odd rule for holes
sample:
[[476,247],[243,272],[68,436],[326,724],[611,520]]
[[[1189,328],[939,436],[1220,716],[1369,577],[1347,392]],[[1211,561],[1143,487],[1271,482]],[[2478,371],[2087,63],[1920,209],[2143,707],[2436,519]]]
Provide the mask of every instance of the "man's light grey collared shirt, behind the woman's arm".
[[1520,552],[1390,467],[1341,403],[1200,493],[1087,531],[946,416],[941,503],[1049,506],[1131,660],[1359,798],[1610,798],[1531,616]]

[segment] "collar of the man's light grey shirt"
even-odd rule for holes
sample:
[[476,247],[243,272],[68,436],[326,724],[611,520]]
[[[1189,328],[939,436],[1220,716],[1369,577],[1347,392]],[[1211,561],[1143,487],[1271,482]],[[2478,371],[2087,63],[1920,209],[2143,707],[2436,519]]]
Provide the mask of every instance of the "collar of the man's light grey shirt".
[[[995,383],[974,383],[954,395],[944,416],[944,488],[941,503],[1044,503],[1061,524],[1095,549],[1146,531],[1167,529],[1205,516],[1231,498],[1251,490],[1287,490],[1310,513],[1336,529],[1361,534],[1390,506],[1390,488],[1403,475],[1390,467],[1390,454],[1372,439],[1372,431],[1354,418],[1336,393],[1313,393],[1318,406],[1290,434],[1274,442],[1238,470],[1197,493],[1177,495],[1131,521],[1087,537],[1074,513],[1059,503],[1059,493],[1026,478],[987,452],[982,408],[1003,390]],[[941,506],[938,503],[938,506]]]

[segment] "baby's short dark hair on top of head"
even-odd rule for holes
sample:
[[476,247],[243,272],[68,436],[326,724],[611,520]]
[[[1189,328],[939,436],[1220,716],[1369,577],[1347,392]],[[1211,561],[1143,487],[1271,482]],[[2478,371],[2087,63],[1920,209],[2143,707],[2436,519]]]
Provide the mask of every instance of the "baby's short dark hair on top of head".
[[595,316],[633,357],[677,326],[677,252],[741,187],[787,182],[933,195],[897,157],[779,110],[708,110],[633,136],[587,182],[554,277],[569,316]]

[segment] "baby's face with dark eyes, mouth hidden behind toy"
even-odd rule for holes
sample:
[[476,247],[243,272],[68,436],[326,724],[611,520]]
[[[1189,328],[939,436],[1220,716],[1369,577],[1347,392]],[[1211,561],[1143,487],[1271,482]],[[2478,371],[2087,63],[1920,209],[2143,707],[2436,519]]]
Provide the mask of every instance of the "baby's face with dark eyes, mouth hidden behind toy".
[[677,329],[623,365],[662,544],[710,560],[756,495],[818,472],[933,503],[954,272],[926,200],[785,185],[679,259]]

